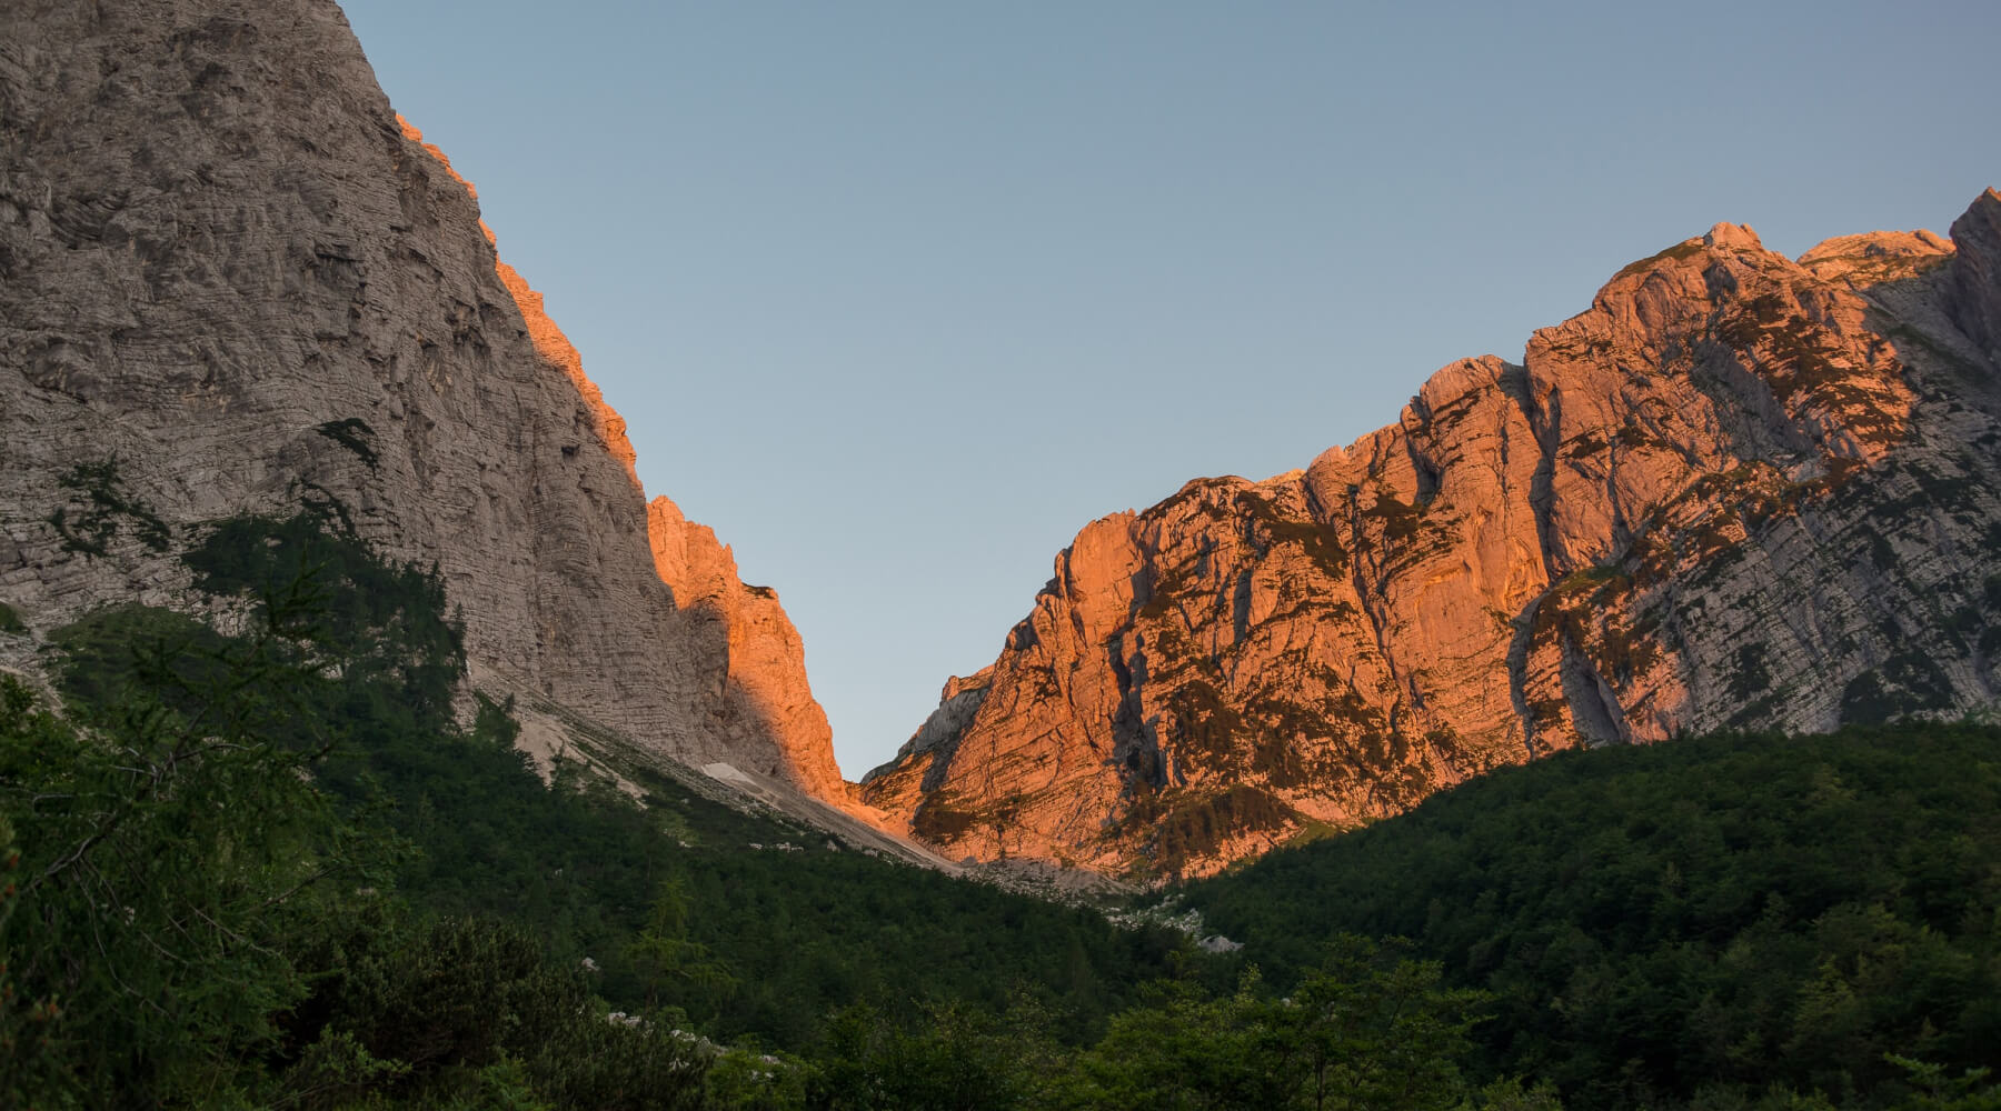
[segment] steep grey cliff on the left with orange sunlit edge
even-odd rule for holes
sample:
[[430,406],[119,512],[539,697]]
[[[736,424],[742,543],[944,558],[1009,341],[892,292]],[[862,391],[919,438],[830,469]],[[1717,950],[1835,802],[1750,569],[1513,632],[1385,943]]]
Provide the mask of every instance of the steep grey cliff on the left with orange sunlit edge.
[[800,643],[648,510],[624,424],[330,0],[0,8],[0,597],[168,601],[48,524],[76,464],[176,532],[334,498],[436,563],[474,683],[844,801]]

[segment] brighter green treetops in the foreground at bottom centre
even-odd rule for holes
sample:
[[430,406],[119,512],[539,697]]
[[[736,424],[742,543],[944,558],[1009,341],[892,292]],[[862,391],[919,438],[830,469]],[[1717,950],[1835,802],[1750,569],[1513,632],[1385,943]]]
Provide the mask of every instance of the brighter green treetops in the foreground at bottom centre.
[[1235,991],[1153,983],[1087,1047],[1065,1047],[1029,999],[896,1021],[836,1013],[806,1063],[804,1105],[848,1109],[1383,1109],[1559,1111],[1547,1089],[1477,1091],[1459,1061],[1483,995],[1437,963],[1337,939],[1291,995],[1249,971]]

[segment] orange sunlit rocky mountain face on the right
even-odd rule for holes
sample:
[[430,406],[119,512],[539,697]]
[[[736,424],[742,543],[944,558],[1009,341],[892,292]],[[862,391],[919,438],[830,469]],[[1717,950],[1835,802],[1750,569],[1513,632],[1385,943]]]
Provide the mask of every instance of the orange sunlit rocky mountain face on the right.
[[1719,224],[1521,364],[1093,522],[864,799],[948,855],[1205,873],[1495,765],[2001,689],[2001,196]]

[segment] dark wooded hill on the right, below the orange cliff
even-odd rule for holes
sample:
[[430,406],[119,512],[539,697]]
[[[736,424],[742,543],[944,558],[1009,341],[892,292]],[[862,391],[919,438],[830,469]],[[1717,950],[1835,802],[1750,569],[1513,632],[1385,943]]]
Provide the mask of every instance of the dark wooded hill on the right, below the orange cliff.
[[1887,1053],[2001,1063],[1997,741],[1897,725],[1567,753],[1187,897],[1285,977],[1331,933],[1415,937],[1497,997],[1485,1069],[1577,1107],[1771,1085],[1887,1105]]

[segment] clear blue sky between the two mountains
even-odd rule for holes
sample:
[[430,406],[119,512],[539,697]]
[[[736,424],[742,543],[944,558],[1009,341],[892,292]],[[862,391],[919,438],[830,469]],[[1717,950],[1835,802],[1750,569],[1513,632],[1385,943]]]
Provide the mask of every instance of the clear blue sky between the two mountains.
[[2001,186],[1993,0],[346,0],[858,779],[1093,518],[1519,360],[1623,264]]

